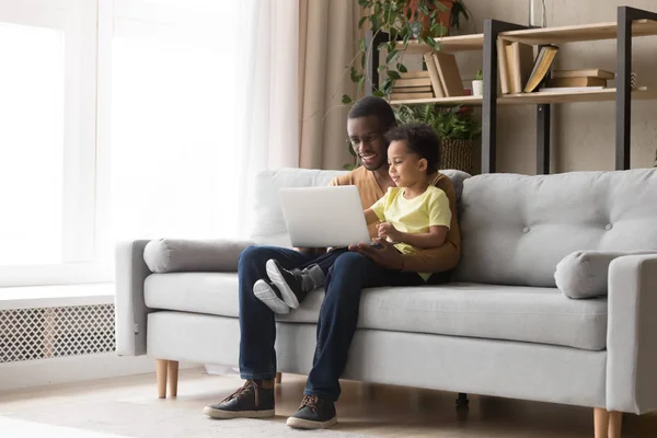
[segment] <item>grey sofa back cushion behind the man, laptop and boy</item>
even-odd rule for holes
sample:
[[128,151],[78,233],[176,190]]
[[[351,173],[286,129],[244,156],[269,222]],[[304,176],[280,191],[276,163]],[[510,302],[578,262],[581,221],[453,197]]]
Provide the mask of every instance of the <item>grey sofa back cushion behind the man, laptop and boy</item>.
[[[457,170],[445,170],[454,185],[457,206],[460,205],[463,181],[470,175]],[[254,207],[251,220],[250,238],[257,244],[290,247],[290,239],[278,200],[281,187],[326,186],[337,175],[346,171],[321,171],[309,169],[279,169],[261,172],[255,181]]]

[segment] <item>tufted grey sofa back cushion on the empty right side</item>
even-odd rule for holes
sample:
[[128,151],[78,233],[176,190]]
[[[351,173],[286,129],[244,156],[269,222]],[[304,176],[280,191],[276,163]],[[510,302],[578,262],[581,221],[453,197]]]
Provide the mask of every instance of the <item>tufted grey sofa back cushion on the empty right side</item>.
[[555,287],[575,251],[657,250],[657,170],[465,181],[457,278]]

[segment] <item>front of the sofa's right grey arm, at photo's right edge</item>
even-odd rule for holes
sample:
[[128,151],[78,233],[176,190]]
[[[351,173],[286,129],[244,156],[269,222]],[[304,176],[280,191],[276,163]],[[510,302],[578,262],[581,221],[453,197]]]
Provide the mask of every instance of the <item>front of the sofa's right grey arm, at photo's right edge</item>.
[[607,410],[657,410],[657,255],[629,255],[609,267]]

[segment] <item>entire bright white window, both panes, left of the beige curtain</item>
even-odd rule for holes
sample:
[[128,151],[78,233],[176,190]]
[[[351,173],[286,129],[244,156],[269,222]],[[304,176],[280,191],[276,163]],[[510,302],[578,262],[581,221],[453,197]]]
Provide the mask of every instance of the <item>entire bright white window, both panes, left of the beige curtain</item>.
[[111,281],[118,240],[237,234],[239,3],[0,0],[0,287]]

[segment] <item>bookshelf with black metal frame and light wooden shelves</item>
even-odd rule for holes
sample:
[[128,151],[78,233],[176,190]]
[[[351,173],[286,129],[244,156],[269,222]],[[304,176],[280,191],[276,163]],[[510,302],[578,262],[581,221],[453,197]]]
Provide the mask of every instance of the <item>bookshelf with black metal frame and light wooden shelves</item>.
[[[440,50],[453,53],[482,50],[484,60],[484,95],[391,101],[391,105],[437,103],[443,105],[482,105],[482,172],[496,170],[497,141],[495,138],[498,105],[537,106],[537,173],[550,173],[550,122],[551,105],[577,102],[615,101],[616,135],[615,168],[630,169],[630,122],[633,99],[657,99],[655,90],[646,87],[631,89],[632,38],[657,35],[657,13],[630,7],[619,7],[616,22],[585,24],[576,26],[527,28],[498,20],[485,20],[484,33],[437,38]],[[570,92],[534,92],[519,94],[497,93],[497,38],[530,45],[565,44],[599,39],[616,39],[616,88]],[[431,51],[426,44],[410,43],[408,54],[422,55]],[[372,69],[378,66],[378,50]],[[377,76],[373,76],[374,78]],[[377,79],[378,80],[378,79]],[[492,87],[493,85],[493,87]]]

